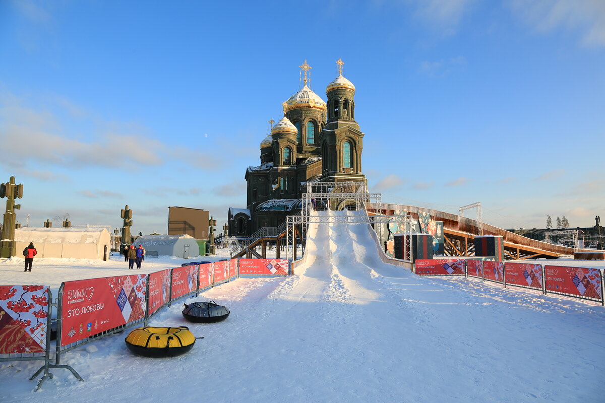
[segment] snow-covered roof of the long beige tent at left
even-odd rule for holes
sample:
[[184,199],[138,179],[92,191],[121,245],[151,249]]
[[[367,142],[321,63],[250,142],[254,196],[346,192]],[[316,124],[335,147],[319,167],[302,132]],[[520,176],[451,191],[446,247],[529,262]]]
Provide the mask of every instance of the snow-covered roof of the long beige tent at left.
[[38,228],[23,227],[15,230],[16,242],[36,243],[99,243],[109,237],[105,228]]

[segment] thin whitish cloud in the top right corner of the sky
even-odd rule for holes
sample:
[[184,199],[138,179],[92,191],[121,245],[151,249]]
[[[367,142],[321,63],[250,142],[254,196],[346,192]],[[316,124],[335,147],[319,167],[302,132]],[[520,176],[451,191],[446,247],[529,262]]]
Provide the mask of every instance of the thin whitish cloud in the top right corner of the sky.
[[603,0],[510,0],[515,15],[540,33],[577,31],[586,47],[605,46]]

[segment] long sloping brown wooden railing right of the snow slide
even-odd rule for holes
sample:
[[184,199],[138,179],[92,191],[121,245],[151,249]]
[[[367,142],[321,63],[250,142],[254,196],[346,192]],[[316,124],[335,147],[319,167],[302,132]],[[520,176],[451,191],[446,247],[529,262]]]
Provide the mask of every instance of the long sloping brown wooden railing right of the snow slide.
[[[474,220],[472,218],[466,218],[465,216],[460,216],[458,214],[446,213],[445,211],[433,210],[431,208],[416,207],[407,204],[390,203],[367,203],[367,209],[371,213],[378,213],[379,211],[382,211],[382,214],[385,215],[392,215],[394,214],[395,210],[407,210],[410,212],[411,216],[414,219],[418,219],[419,211],[425,211],[430,214],[432,220],[443,221],[443,227],[445,228],[473,236],[479,235],[479,227],[477,225],[477,220]],[[502,228],[494,227],[494,225],[482,223],[481,227],[483,229],[483,235],[502,235],[504,242],[513,243],[515,245],[519,245],[520,247],[530,247],[533,249],[549,251],[562,255],[571,255],[574,254],[575,251],[581,251],[581,249],[561,247],[559,245],[552,245],[552,243],[530,239],[528,237],[512,233],[511,231],[506,231]]]

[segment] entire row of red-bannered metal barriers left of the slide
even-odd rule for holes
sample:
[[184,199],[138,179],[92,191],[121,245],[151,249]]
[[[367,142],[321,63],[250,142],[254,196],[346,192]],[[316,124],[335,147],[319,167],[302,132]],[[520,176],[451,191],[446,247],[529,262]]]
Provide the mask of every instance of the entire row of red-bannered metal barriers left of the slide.
[[[286,276],[290,262],[285,259],[242,259],[247,276]],[[101,277],[64,282],[57,302],[51,304],[48,286],[0,286],[0,361],[44,360],[38,390],[52,377],[50,368],[68,369],[83,381],[76,370],[60,364],[60,355],[108,334],[121,332],[186,297],[239,276],[238,259],[188,265],[148,275]],[[50,358],[51,308],[57,307],[57,341],[54,363]],[[35,355],[44,353],[44,355]],[[26,356],[23,356],[26,354]],[[8,355],[8,356],[6,356]],[[16,356],[21,355],[21,356]]]

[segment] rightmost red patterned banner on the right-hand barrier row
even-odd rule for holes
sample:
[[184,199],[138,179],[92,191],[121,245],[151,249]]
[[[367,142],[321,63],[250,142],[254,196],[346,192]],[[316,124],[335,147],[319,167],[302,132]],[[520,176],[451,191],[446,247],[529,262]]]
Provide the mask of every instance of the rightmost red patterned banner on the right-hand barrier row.
[[601,271],[584,267],[544,266],[546,291],[602,300]]

